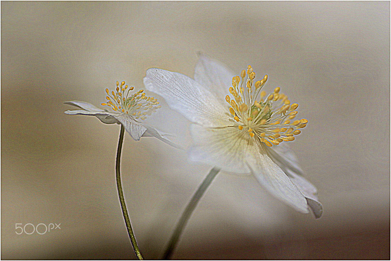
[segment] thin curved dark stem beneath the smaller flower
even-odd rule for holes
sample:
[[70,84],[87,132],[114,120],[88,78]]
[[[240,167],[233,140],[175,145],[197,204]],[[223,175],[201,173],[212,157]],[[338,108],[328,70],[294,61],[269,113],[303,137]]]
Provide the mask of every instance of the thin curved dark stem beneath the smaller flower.
[[124,215],[127,232],[129,234],[130,241],[132,242],[133,249],[135,250],[136,257],[138,258],[138,260],[143,260],[140,249],[138,249],[135,235],[133,234],[132,226],[130,224],[129,215],[127,215],[124,193],[122,192],[121,174],[120,174],[120,160],[121,160],[122,142],[124,141],[124,132],[125,132],[124,126],[121,124],[120,138],[118,139],[117,160],[115,163],[115,173],[116,173],[116,177],[117,177],[118,197],[120,198],[122,214]]

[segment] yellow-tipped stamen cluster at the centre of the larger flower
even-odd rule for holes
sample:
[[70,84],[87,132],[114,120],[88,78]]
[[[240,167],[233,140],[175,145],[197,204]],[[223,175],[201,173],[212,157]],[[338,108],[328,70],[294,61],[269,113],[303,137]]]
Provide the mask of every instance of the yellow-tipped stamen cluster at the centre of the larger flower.
[[247,131],[249,137],[256,138],[269,147],[278,145],[282,141],[293,141],[293,135],[300,134],[299,129],[304,128],[308,122],[306,119],[291,122],[296,117],[295,110],[299,105],[297,103],[291,105],[288,97],[279,93],[280,87],[276,87],[273,93],[268,95],[265,91],[261,91],[267,75],[262,80],[256,81],[253,86],[255,72],[250,65],[247,66],[247,75],[246,88],[243,88],[246,71],[242,70],[240,77],[232,78],[232,87],[229,91],[233,99],[229,95],[225,97],[231,105],[230,113],[238,122],[239,130]]

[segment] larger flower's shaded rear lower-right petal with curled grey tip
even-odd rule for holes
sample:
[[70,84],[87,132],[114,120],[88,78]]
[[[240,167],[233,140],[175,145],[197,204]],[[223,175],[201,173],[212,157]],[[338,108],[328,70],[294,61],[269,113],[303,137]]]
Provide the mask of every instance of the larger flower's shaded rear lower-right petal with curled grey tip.
[[322,204],[318,202],[317,198],[317,189],[311,182],[307,181],[302,174],[303,170],[301,170],[297,157],[294,153],[289,149],[288,144],[280,143],[278,146],[267,147],[262,146],[271,157],[271,159],[287,174],[287,176],[291,179],[293,184],[295,184],[298,189],[300,189],[301,193],[307,199],[308,206],[310,206],[312,212],[314,213],[316,218],[320,218],[322,216]]

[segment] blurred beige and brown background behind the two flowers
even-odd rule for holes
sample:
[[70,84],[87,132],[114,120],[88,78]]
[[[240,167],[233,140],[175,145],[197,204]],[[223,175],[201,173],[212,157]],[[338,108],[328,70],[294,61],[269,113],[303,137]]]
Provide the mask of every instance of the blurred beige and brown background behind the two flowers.
[[[63,102],[98,106],[117,80],[141,89],[151,67],[192,77],[197,51],[237,73],[251,64],[300,104],[309,123],[291,147],[324,215],[220,173],[173,257],[389,259],[389,15],[389,2],[2,1],[2,259],[135,258],[115,184],[119,126]],[[148,122],[188,145],[189,123],[159,101]],[[136,238],[158,259],[211,166],[129,135],[122,155]],[[17,235],[15,223],[61,230]]]

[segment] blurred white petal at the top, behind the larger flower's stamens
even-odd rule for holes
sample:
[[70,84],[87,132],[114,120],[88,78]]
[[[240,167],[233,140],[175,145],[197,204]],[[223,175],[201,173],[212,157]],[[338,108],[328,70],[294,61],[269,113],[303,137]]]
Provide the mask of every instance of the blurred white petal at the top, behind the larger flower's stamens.
[[[232,77],[235,76],[228,67],[207,55],[199,54],[199,60],[194,70],[194,80],[209,91],[215,93],[224,101],[228,88],[232,86]],[[225,105],[225,104],[224,104]]]

